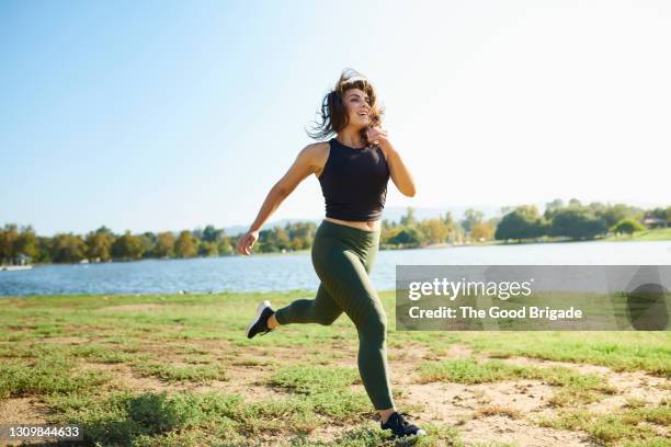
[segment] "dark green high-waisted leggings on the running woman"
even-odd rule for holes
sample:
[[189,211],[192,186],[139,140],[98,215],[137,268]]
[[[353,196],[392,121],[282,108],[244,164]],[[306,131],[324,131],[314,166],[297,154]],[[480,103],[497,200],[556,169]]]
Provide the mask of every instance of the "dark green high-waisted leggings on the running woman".
[[379,245],[376,231],[322,220],[312,243],[312,265],[321,279],[315,299],[278,309],[280,324],[331,324],[344,311],[359,333],[359,373],[376,410],[394,406],[387,373],[387,316],[368,273]]

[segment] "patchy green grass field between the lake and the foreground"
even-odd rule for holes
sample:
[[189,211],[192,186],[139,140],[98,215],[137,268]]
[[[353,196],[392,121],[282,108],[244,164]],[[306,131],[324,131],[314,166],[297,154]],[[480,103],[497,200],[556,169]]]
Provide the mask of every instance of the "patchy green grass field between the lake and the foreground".
[[[416,444],[394,443],[379,429],[356,368],[356,331],[344,316],[331,326],[287,325],[246,339],[260,300],[281,307],[307,297],[311,293],[295,290],[3,298],[0,398],[41,402],[46,410],[35,417],[81,424],[88,445],[235,446],[248,439],[291,446],[473,445],[463,439],[463,426],[447,422],[423,423],[429,436]],[[656,427],[669,425],[668,404],[632,398],[605,419],[580,410],[613,392],[598,375],[499,358],[603,365],[669,378],[669,333],[397,332],[394,293],[380,297],[393,373],[396,363],[413,363],[422,382],[544,381],[555,390],[548,398],[555,417],[537,422],[542,426],[582,431],[605,444],[663,445]],[[447,359],[455,344],[499,358]],[[423,358],[408,355],[416,349]],[[401,389],[394,391],[401,410],[412,409]],[[425,410],[424,403],[412,405]],[[473,417],[494,414],[527,417],[496,404],[485,404]],[[488,445],[507,444],[494,435]]]

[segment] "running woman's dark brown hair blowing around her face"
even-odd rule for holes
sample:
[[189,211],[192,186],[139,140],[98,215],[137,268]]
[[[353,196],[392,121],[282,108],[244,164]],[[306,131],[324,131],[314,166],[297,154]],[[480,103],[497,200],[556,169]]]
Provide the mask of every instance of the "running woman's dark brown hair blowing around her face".
[[[362,73],[352,68],[345,68],[342,70],[333,90],[327,93],[321,101],[321,111],[317,113],[317,115],[320,115],[321,122],[315,122],[311,131],[306,130],[310,138],[323,140],[348,125],[349,116],[344,105],[344,95],[350,89],[361,89],[368,95],[368,105],[371,106],[368,126],[374,127],[382,124],[384,108],[377,104],[375,88]],[[362,138],[366,145],[369,145],[365,128],[362,129]]]

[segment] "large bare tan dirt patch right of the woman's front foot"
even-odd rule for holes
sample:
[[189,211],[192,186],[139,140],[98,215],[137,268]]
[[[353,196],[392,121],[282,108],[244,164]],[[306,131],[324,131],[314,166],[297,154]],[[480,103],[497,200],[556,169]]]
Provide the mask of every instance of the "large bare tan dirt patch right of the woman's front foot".
[[[394,349],[389,349],[394,352]],[[412,354],[414,352],[414,354]],[[463,385],[453,382],[420,383],[417,374],[422,359],[473,358],[479,362],[492,358],[474,353],[468,346],[452,345],[443,355],[429,349],[411,349],[411,354],[390,356],[393,387],[401,391],[397,404],[421,409],[409,411],[418,422],[447,424],[457,427],[467,445],[471,443],[513,443],[521,446],[591,446],[589,436],[581,432],[541,427],[534,421],[538,416],[553,417],[557,409],[548,403],[560,387],[543,383],[542,380],[505,380],[491,383]],[[437,358],[436,358],[437,357]],[[657,405],[671,399],[668,380],[647,375],[645,371],[616,373],[612,369],[587,364],[551,362],[527,357],[501,358],[502,362],[536,367],[567,367],[580,374],[595,374],[617,389],[615,394],[602,394],[599,402],[585,409],[598,413],[621,410],[627,399],[641,399],[646,404]],[[353,387],[354,388],[354,387]],[[363,390],[363,387],[355,386]],[[494,410],[493,415],[487,415]],[[498,410],[497,410],[498,409]],[[496,414],[497,411],[500,414]],[[482,412],[485,414],[482,414]],[[507,413],[509,415],[507,415]],[[510,417],[510,414],[520,417]]]

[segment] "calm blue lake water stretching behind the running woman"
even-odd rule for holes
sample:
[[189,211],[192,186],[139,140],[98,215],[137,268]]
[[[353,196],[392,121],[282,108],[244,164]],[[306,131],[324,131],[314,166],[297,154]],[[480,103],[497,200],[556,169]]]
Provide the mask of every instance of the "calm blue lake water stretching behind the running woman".
[[[395,288],[396,265],[671,265],[671,241],[566,242],[383,250],[372,279]],[[37,266],[0,272],[0,296],[317,290],[309,252]]]

